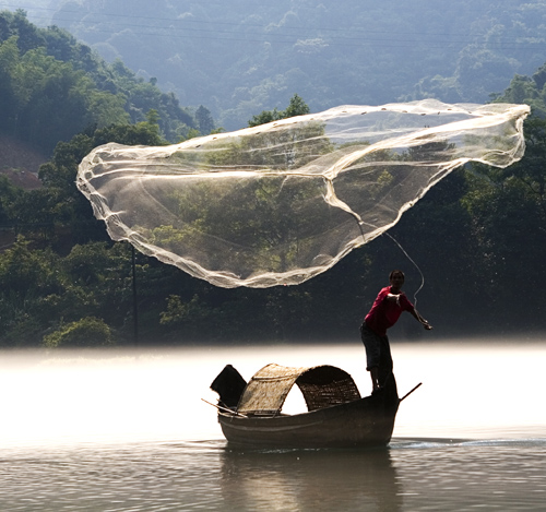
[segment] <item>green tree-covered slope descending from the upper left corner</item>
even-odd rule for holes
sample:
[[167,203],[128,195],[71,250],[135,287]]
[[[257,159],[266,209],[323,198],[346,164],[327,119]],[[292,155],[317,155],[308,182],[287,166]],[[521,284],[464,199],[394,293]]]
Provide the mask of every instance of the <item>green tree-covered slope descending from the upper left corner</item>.
[[0,133],[45,154],[88,127],[142,122],[151,110],[170,142],[214,129],[204,107],[195,117],[155,83],[119,60],[106,63],[62,29],[37,28],[22,11],[0,12]]

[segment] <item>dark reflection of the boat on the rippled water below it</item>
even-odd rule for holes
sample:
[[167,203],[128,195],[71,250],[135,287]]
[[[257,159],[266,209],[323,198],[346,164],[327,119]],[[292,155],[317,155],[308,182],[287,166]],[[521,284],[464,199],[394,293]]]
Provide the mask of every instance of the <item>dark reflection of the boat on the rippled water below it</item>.
[[377,510],[402,499],[389,450],[226,450],[222,495],[228,510]]

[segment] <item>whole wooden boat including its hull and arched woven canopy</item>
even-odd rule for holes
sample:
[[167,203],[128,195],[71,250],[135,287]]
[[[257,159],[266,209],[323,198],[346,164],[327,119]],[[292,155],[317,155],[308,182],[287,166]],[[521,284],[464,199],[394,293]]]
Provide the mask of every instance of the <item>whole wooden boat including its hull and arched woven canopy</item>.
[[[282,407],[294,384],[308,412],[285,415]],[[333,366],[268,365],[247,384],[228,365],[211,389],[219,394],[222,431],[229,444],[238,446],[384,446],[401,402],[392,372],[381,391],[360,397],[353,378]]]

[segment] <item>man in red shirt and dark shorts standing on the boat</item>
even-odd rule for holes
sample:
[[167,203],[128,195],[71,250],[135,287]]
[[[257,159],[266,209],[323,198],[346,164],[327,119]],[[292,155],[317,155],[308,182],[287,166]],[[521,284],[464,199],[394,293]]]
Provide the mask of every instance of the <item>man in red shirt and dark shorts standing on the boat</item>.
[[427,331],[432,329],[402,291],[404,279],[402,271],[391,272],[390,286],[379,291],[373,306],[360,325],[360,336],[366,348],[366,369],[371,376],[372,393],[378,392],[392,373],[392,357],[387,330],[396,323],[402,312],[410,312]]

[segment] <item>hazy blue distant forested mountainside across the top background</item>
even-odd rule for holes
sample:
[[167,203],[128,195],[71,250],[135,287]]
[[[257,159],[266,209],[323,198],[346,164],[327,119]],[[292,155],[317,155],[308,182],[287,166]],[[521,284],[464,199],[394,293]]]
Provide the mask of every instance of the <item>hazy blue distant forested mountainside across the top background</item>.
[[[38,0],[24,0],[29,8]],[[546,55],[546,1],[55,0],[33,10],[157,79],[227,130],[294,93],[311,111],[437,97],[484,103]]]

